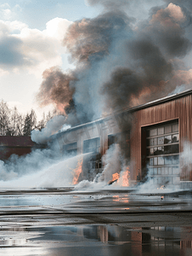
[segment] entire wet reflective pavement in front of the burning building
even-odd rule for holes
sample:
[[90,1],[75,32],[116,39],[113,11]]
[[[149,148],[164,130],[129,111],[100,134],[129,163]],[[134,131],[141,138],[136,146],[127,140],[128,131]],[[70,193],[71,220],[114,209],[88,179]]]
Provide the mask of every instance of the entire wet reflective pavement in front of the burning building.
[[190,191],[0,191],[0,255],[192,255]]

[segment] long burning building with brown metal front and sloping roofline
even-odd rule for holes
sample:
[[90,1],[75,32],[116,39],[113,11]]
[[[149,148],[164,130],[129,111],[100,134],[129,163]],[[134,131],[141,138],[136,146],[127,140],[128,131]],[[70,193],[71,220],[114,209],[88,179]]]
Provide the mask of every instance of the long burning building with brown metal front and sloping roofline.
[[[192,187],[190,164],[181,157],[185,143],[192,141],[191,113],[192,90],[186,90],[71,127],[56,140],[63,154],[90,154],[82,171],[89,180],[103,171],[101,158],[107,149],[119,143],[131,181],[152,177],[159,186]],[[125,125],[130,119],[132,125]]]

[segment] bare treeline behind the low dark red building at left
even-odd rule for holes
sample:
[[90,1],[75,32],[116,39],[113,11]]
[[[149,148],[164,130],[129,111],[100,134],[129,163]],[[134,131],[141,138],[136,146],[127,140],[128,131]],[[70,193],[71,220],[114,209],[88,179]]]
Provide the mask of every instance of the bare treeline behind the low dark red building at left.
[[8,108],[7,102],[0,102],[0,136],[31,136],[33,129],[42,130],[54,116],[58,115],[54,109],[47,114],[43,113],[42,119],[37,121],[37,114],[33,109],[30,113],[21,114],[16,107]]

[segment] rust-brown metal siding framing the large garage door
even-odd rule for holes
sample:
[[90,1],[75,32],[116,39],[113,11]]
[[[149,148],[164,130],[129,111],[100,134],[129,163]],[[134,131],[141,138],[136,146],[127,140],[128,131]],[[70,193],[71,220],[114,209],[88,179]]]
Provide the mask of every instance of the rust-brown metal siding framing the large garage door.
[[[136,180],[138,170],[141,170],[141,128],[178,119],[180,137],[180,152],[183,151],[184,142],[192,142],[192,105],[191,95],[161,103],[150,108],[140,109],[133,113],[133,131],[131,135],[131,178]],[[183,163],[181,163],[183,166]],[[189,167],[190,168],[190,167]],[[192,180],[192,173],[183,168],[181,179]]]

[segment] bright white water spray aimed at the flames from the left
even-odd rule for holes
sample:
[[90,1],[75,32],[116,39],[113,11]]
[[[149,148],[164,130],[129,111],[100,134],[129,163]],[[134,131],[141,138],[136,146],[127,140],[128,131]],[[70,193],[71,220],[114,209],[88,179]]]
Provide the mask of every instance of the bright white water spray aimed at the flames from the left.
[[[68,160],[59,160],[52,164],[42,166],[36,172],[28,173],[19,177],[16,172],[7,172],[6,165],[0,162],[1,177],[2,174],[6,181],[0,181],[1,188],[63,188],[72,185],[73,172],[78,160],[82,155],[72,157]],[[11,180],[10,180],[11,179]]]

